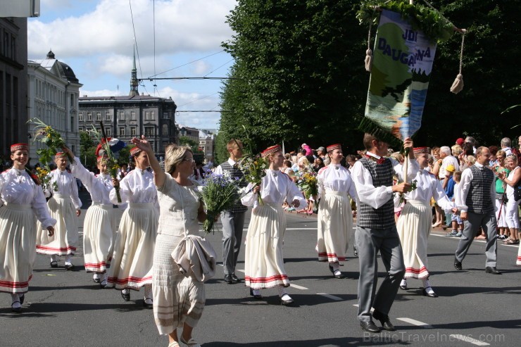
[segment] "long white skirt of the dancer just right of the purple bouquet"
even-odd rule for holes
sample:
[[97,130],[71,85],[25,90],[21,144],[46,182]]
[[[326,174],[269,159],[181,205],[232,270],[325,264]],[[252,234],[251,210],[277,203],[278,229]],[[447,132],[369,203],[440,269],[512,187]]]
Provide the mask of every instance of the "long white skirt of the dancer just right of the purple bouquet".
[[282,206],[264,203],[251,213],[244,255],[246,286],[251,289],[289,286],[282,255],[284,232],[286,217]]

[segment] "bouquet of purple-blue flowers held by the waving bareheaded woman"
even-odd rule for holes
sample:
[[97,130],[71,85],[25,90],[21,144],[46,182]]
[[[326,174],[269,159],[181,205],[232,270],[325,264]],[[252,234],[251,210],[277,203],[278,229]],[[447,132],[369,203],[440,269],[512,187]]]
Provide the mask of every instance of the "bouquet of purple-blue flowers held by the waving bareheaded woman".
[[239,179],[223,175],[206,175],[199,194],[206,206],[203,230],[208,234],[213,232],[215,218],[223,210],[230,210],[239,198]]

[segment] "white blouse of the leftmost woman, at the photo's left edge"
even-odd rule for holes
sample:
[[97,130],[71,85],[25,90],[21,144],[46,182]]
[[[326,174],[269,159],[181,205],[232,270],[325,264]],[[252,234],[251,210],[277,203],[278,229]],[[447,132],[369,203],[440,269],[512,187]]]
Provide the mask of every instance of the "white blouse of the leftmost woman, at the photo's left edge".
[[56,220],[49,214],[42,187],[34,184],[25,169],[11,168],[2,172],[0,191],[3,203],[30,205],[32,212],[45,228],[56,224]]

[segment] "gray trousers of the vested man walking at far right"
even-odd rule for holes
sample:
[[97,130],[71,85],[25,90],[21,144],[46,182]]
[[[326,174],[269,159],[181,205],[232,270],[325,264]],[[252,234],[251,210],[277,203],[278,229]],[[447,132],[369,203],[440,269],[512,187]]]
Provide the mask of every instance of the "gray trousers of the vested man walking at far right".
[[485,234],[487,234],[487,248],[485,248],[485,254],[487,255],[486,267],[496,267],[496,260],[498,258],[498,235],[496,232],[497,226],[496,214],[494,211],[487,214],[478,214],[467,212],[467,220],[465,220],[463,227],[463,235],[461,236],[460,243],[456,249],[456,260],[463,262],[467,251],[474,241],[479,227],[482,227]]

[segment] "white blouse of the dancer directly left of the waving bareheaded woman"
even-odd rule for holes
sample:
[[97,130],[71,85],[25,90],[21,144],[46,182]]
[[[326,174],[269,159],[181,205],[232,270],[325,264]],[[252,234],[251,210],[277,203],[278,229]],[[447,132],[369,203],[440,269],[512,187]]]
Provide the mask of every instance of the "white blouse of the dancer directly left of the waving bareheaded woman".
[[[121,203],[153,203],[158,208],[158,191],[153,183],[153,173],[138,168],[127,173],[120,182]],[[115,189],[111,189],[111,201],[118,205]]]

